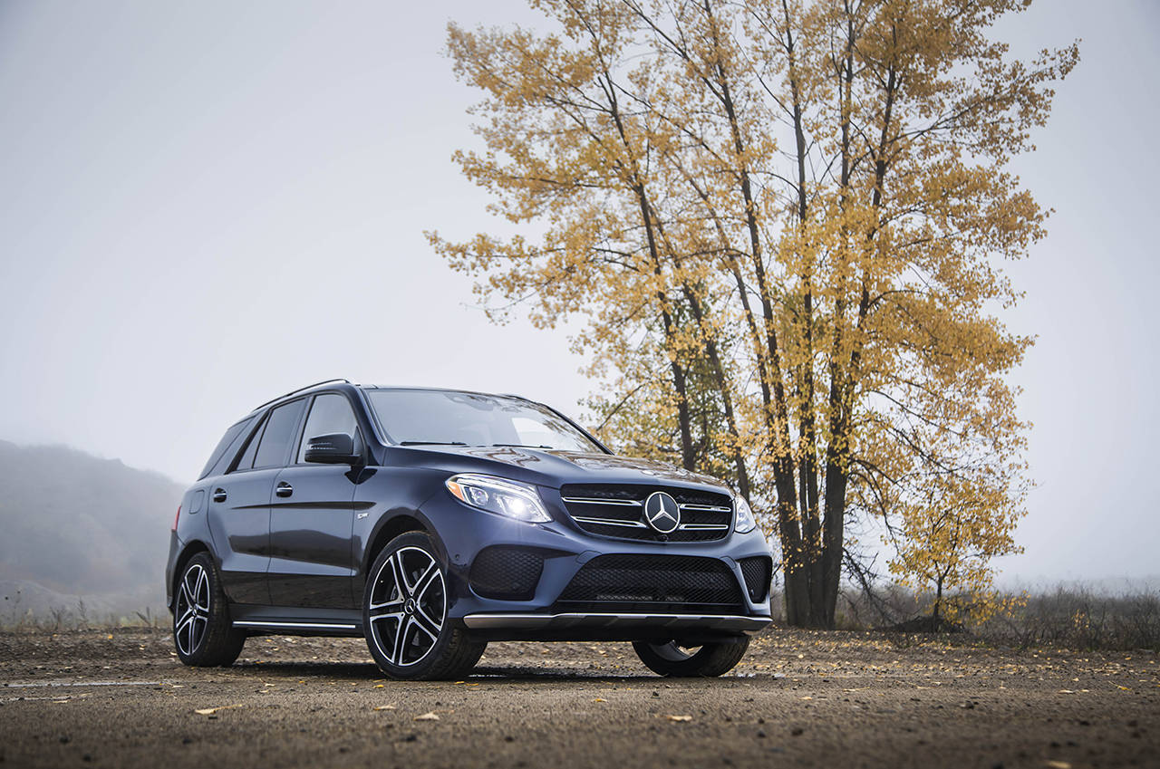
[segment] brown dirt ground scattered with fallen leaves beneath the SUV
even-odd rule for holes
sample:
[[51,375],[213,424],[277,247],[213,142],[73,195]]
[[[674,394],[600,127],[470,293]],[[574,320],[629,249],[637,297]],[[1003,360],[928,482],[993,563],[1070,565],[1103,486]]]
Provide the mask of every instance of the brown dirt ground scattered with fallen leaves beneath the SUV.
[[774,630],[722,679],[657,677],[626,644],[493,644],[465,681],[403,683],[353,639],[253,638],[233,667],[191,669],[161,631],[6,633],[0,762],[1160,767],[1158,668]]

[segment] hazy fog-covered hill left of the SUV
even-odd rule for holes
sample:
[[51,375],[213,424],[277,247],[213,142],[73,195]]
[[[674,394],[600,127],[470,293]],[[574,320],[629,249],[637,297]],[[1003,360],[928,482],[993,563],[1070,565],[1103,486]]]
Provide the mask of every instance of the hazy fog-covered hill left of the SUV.
[[0,441],[0,612],[78,597],[97,610],[164,605],[182,491],[119,459]]

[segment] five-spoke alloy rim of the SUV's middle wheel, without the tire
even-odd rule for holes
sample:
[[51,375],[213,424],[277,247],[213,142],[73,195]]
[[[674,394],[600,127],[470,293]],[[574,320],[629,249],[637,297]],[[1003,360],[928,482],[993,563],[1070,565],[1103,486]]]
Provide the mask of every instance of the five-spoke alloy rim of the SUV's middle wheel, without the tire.
[[447,585],[435,557],[416,546],[391,553],[375,575],[367,610],[371,639],[391,665],[422,661],[447,617]]

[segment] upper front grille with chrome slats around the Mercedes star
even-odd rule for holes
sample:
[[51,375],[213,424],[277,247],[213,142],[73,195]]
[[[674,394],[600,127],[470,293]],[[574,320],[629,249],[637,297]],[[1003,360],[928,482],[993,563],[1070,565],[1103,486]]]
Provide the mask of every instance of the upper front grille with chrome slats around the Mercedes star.
[[[644,520],[644,501],[667,492],[681,508],[681,525],[670,534],[654,531]],[[617,539],[644,542],[711,542],[728,534],[733,501],[728,494],[637,484],[566,484],[564,507],[581,529]]]

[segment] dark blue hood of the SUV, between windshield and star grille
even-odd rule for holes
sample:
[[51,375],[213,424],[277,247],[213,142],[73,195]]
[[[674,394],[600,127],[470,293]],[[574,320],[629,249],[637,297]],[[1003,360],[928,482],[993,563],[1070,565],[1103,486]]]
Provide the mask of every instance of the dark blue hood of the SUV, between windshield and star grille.
[[[564,484],[672,484],[711,486],[730,493],[716,478],[690,472],[665,462],[612,454],[529,449],[522,447],[438,447],[422,450],[428,466],[441,464],[452,472],[480,472],[558,488]],[[429,455],[442,455],[433,462]]]

